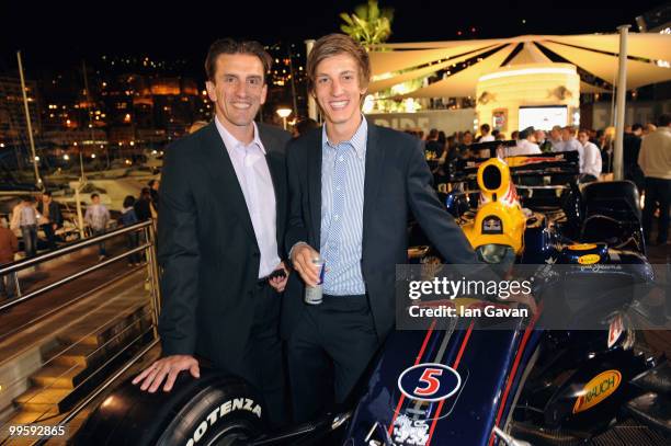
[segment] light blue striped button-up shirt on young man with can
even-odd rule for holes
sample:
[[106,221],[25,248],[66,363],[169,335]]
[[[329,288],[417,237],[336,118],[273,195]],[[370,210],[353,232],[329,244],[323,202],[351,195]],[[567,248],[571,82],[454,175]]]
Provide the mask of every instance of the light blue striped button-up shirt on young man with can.
[[349,141],[333,145],[326,126],[321,151],[321,240],[319,252],[327,272],[323,293],[363,295],[361,272],[364,179],[368,124],[362,116]]

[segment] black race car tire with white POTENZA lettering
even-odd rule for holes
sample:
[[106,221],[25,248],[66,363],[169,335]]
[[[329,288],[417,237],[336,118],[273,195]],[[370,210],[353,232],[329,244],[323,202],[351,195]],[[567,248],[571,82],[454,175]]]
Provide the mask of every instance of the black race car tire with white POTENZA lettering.
[[149,393],[130,379],[105,398],[75,445],[242,445],[264,432],[265,407],[243,379],[201,369],[182,373],[172,391]]

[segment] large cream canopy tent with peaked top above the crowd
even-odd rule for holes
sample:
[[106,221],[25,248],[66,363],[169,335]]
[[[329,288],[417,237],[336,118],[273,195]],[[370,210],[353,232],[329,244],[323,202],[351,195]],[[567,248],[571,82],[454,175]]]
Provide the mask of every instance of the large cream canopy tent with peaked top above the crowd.
[[[512,50],[522,49],[505,66],[549,61],[542,48],[549,49],[610,84],[616,83],[618,72],[618,34],[589,35],[526,35],[499,39],[382,44],[372,48],[369,56],[373,82],[368,92],[375,93],[411,79],[427,77],[453,64],[462,64],[474,56],[501,48],[482,60],[447,75],[442,80],[396,98],[473,96],[480,76],[499,68]],[[470,57],[468,55],[470,54]],[[503,56],[503,57],[502,57]],[[671,35],[632,33],[628,36],[627,89],[671,80]],[[384,80],[384,82],[383,82]],[[582,92],[604,91],[582,82]]]

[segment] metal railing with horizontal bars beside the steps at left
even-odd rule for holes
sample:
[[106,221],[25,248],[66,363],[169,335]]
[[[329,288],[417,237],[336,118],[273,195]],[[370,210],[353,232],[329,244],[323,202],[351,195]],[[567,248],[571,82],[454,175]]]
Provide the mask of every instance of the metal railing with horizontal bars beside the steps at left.
[[[86,265],[81,268],[78,268],[75,272],[71,272],[70,274],[66,275],[65,277],[59,277],[56,278],[49,283],[46,284],[38,284],[37,286],[34,287],[34,289],[30,289],[29,293],[25,294],[21,294],[20,288],[16,288],[16,297],[14,297],[13,299],[3,302],[2,305],[0,305],[0,313],[9,310],[13,307],[16,307],[19,305],[22,304],[26,304],[29,302],[31,299],[34,299],[37,296],[44,295],[45,293],[48,293],[50,290],[57,289],[68,283],[71,283],[73,281],[77,281],[86,275],[89,275],[95,271],[100,271],[106,266],[109,266],[112,263],[122,261],[127,259],[130,254],[135,254],[135,253],[140,253],[144,252],[145,253],[145,259],[146,259],[146,268],[147,268],[147,276],[146,276],[146,282],[149,284],[149,315],[147,315],[146,310],[143,312],[143,315],[145,315],[144,317],[150,317],[151,323],[148,327],[147,324],[143,325],[141,321],[139,323],[139,328],[137,330],[137,332],[133,331],[133,327],[127,327],[124,328],[121,332],[116,333],[112,339],[105,341],[105,343],[102,346],[99,346],[93,353],[91,353],[91,356],[96,354],[99,351],[104,350],[104,347],[106,347],[107,344],[111,344],[113,342],[115,342],[117,339],[122,338],[122,336],[128,336],[128,340],[130,341],[129,343],[127,343],[126,345],[122,345],[118,351],[116,352],[112,352],[111,357],[106,357],[105,361],[103,362],[102,365],[96,366],[96,370],[111,364],[112,362],[115,362],[118,357],[121,357],[122,355],[124,355],[124,363],[120,363],[118,366],[115,366],[113,370],[111,370],[113,373],[113,375],[111,377],[109,377],[107,379],[100,381],[101,384],[96,385],[95,388],[92,388],[91,391],[89,391],[84,397],[83,400],[81,400],[79,403],[77,403],[73,409],[60,413],[58,416],[60,418],[60,421],[58,422],[58,424],[65,425],[67,423],[69,423],[70,421],[72,421],[83,409],[86,409],[87,405],[89,405],[98,396],[100,396],[105,389],[110,388],[111,386],[114,385],[114,381],[122,376],[125,371],[127,371],[133,365],[135,365],[144,354],[146,354],[148,351],[150,351],[152,347],[155,347],[158,344],[158,316],[159,316],[159,308],[160,308],[160,291],[159,291],[159,268],[158,268],[158,262],[157,262],[157,254],[156,254],[156,232],[155,232],[155,226],[153,226],[153,221],[152,220],[148,220],[148,221],[143,221],[143,222],[138,222],[132,226],[127,226],[127,227],[123,227],[120,229],[115,229],[115,230],[111,230],[109,232],[105,232],[104,235],[101,236],[96,236],[96,237],[91,237],[84,240],[80,240],[77,242],[73,242],[71,244],[68,244],[66,247],[62,247],[60,249],[50,251],[50,252],[46,252],[39,255],[36,255],[34,258],[30,258],[30,259],[23,259],[10,264],[5,264],[0,266],[0,278],[2,278],[5,275],[9,276],[16,276],[19,272],[24,272],[29,268],[32,268],[34,266],[38,266],[42,265],[46,262],[49,261],[55,261],[58,259],[62,259],[64,256],[71,254],[71,253],[76,253],[76,252],[81,252],[84,249],[91,248],[91,247],[95,247],[101,242],[104,241],[109,241],[112,239],[116,239],[118,237],[125,237],[126,235],[132,235],[132,233],[141,233],[143,237],[139,237],[139,241],[136,243],[136,247],[129,247],[123,250],[123,252],[113,255],[109,259],[105,259],[103,261],[100,261],[93,265]],[[136,272],[137,268],[134,270],[129,270],[129,272],[117,272],[117,275],[115,276],[115,279],[112,282],[106,282],[105,284],[101,285],[100,287],[95,287],[93,290],[99,290],[104,288],[105,286],[111,285],[113,282],[117,282],[118,279],[133,274],[134,272]],[[19,284],[18,284],[19,285]],[[145,288],[147,289],[147,288]],[[73,305],[75,302],[86,298],[87,296],[91,295],[91,289],[87,290],[86,293],[83,293],[80,296],[73,296],[71,299],[67,299],[67,301],[65,302],[59,302],[57,305],[54,306],[54,308],[49,308],[46,312],[36,316],[35,318],[32,318],[30,321],[30,324],[33,324],[35,321],[45,319],[49,316],[53,316],[64,309],[66,309],[68,306]],[[146,296],[146,295],[145,295]],[[145,297],[146,298],[146,297]],[[98,307],[100,308],[100,307]],[[145,307],[146,308],[146,307]],[[141,316],[140,316],[141,318]],[[138,319],[139,320],[139,319]],[[148,322],[148,320],[145,319],[145,323]],[[15,331],[21,331],[25,328],[26,325],[23,324],[21,325],[19,329],[16,329]],[[105,325],[100,325],[100,329],[102,330]],[[144,327],[144,328],[143,328]],[[10,332],[9,334],[14,334],[14,332]],[[139,333],[139,334],[138,334]],[[7,333],[5,333],[7,334]],[[91,333],[84,334],[83,338],[87,338],[91,335]],[[5,336],[4,336],[5,338]],[[133,356],[127,359],[128,354],[130,353],[130,347],[133,345],[136,344],[136,341],[139,341],[140,339],[144,339],[145,341],[143,341],[143,346],[140,347],[139,352],[135,352],[135,354],[133,354]],[[147,341],[149,340],[149,341]],[[76,341],[73,342],[70,346],[66,347],[64,351],[58,352],[54,357],[52,357],[50,359],[48,359],[45,364],[50,363],[55,357],[65,354],[69,348],[71,348],[73,345],[77,345],[79,342],[81,342],[82,340]],[[27,347],[26,347],[27,348]],[[12,356],[13,357],[13,356]],[[11,361],[11,359],[10,359]],[[87,357],[88,361],[88,357]],[[44,367],[45,364],[42,364],[41,367]],[[69,370],[68,370],[69,371]],[[65,371],[61,375],[65,375],[67,371]],[[94,371],[98,373],[98,371]],[[27,377],[22,377],[20,379],[16,380],[15,384],[19,384],[21,380],[25,380],[27,379]],[[88,378],[84,378],[88,379]],[[98,382],[98,381],[96,381]],[[79,387],[79,386],[78,386]],[[47,386],[48,389],[48,386]],[[72,390],[75,391],[75,389]],[[39,422],[39,420],[36,420],[35,422]],[[46,439],[39,439],[33,444],[44,444],[46,442]],[[2,444],[2,439],[0,438],[0,444]]]

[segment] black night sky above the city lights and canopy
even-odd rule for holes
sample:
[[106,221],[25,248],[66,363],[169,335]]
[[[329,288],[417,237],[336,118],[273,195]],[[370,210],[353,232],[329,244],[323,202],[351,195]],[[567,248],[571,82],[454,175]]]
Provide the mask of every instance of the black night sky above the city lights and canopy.
[[[302,44],[306,38],[337,32],[339,13],[352,12],[364,1],[190,0],[179,5],[143,0],[82,4],[5,1],[0,7],[0,72],[16,70],[15,52],[21,49],[29,71],[64,69],[106,54],[185,59],[186,71],[194,73],[202,70],[207,46],[217,37],[251,37],[268,45],[280,41]],[[389,42],[614,32],[619,24],[634,25],[636,15],[663,3],[380,0],[382,7],[396,10]],[[457,31],[463,32],[460,37]]]

